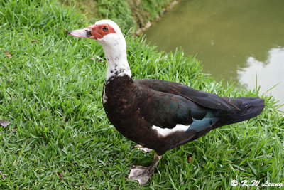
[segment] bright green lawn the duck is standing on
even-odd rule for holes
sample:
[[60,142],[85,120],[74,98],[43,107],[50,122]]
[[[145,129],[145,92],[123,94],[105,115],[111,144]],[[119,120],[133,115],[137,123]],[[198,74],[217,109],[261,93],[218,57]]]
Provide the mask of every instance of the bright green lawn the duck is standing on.
[[[153,152],[133,149],[107,120],[104,53],[95,41],[67,36],[65,29],[89,24],[75,13],[57,1],[0,3],[0,120],[11,122],[0,127],[0,189],[138,189],[126,180],[131,165],[151,164]],[[182,51],[160,53],[130,35],[126,41],[133,78],[177,81],[221,96],[258,95],[224,87]],[[273,97],[263,98],[260,116],[167,152],[140,189],[233,189],[232,179],[284,182],[284,117]]]

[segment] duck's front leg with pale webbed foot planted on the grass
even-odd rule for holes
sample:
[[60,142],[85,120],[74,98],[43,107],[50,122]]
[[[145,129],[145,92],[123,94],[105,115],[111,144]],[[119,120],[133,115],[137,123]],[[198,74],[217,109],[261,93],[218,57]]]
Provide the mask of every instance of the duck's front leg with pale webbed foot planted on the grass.
[[154,160],[150,167],[133,166],[129,174],[129,179],[137,180],[141,185],[146,184],[161,158],[162,156],[155,153]]

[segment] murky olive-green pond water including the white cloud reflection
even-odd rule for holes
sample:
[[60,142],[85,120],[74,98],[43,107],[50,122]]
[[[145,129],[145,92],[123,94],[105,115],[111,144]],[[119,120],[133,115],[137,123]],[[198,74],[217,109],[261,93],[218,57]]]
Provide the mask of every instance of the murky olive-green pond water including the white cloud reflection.
[[217,79],[253,89],[257,78],[284,104],[284,0],[182,0],[145,34],[159,51],[196,55]]

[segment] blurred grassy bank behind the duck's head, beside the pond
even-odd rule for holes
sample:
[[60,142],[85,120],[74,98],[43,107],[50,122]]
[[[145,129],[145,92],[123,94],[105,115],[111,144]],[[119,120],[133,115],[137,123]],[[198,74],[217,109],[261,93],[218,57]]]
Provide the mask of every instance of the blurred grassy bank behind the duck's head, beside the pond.
[[102,18],[111,19],[119,24],[122,31],[131,32],[146,26],[148,21],[154,21],[157,16],[173,0],[60,0],[65,5],[75,5],[82,14],[85,14],[90,23]]

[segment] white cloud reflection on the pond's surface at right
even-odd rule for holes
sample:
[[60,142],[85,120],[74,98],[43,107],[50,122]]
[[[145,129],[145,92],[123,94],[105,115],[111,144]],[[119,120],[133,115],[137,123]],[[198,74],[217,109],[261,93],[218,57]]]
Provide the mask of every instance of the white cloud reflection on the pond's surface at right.
[[[240,83],[250,89],[256,88],[257,78],[258,85],[261,85],[261,92],[273,93],[276,99],[282,100],[284,96],[284,48],[272,48],[268,51],[267,60],[249,57],[246,63],[246,68],[238,70]],[[274,85],[277,86],[266,92]]]

